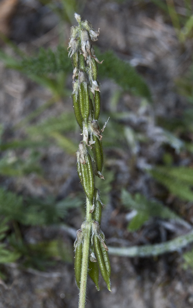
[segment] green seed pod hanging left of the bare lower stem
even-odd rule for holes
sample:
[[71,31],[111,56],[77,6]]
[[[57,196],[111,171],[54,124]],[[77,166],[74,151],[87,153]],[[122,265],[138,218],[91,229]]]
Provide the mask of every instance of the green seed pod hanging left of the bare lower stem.
[[82,230],[79,229],[76,231],[76,241],[75,241],[75,278],[77,287],[80,289],[80,278],[81,278],[81,267],[82,267],[82,243],[83,243],[83,234]]

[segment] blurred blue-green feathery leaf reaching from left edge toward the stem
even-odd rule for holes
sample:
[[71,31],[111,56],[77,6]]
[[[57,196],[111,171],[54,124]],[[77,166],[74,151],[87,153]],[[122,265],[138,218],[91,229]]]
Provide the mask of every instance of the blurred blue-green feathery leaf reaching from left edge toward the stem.
[[68,209],[80,207],[80,197],[67,197],[55,201],[51,196],[46,200],[40,198],[18,196],[16,193],[0,188],[0,216],[17,221],[23,225],[51,225],[60,223]]

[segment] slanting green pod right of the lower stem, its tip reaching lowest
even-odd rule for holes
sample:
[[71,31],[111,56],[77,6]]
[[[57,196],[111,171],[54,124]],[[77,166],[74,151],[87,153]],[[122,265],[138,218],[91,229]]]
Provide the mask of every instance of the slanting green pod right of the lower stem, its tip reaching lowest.
[[93,236],[93,245],[94,245],[94,252],[95,252],[95,255],[96,255],[96,258],[97,258],[97,261],[98,261],[98,265],[99,265],[99,268],[100,268],[100,271],[101,271],[101,275],[106,282],[108,290],[110,291],[111,290],[111,288],[110,288],[110,278],[109,278],[109,274],[106,270],[106,266],[105,266],[105,263],[104,263],[104,260],[103,260],[100,241],[99,241],[98,237],[96,236],[96,234],[94,234],[94,236]]

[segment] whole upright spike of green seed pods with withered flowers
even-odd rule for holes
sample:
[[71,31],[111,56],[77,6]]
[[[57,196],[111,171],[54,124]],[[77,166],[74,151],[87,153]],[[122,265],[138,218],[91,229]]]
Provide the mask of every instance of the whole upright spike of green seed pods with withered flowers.
[[[87,206],[91,219],[86,220],[77,231],[75,247],[75,277],[76,284],[80,289],[82,251],[84,245],[85,224],[90,224],[90,247],[88,274],[99,290],[98,278],[99,270],[110,290],[110,262],[108,248],[105,245],[105,236],[100,229],[101,209],[104,206],[100,200],[99,190],[95,188],[94,177],[104,179],[102,132],[106,126],[100,130],[98,118],[100,113],[100,91],[97,81],[97,63],[94,48],[91,41],[96,41],[99,30],[93,29],[87,20],[81,21],[80,15],[75,13],[78,26],[71,28],[71,36],[68,48],[69,57],[73,65],[73,107],[77,123],[82,131],[82,141],[76,152],[77,171],[80,182],[87,197]],[[92,155],[90,155],[92,151]]]

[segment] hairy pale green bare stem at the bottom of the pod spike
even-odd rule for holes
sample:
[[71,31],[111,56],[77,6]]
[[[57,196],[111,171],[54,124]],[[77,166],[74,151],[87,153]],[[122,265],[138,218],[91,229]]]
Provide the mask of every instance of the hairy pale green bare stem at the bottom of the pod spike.
[[86,301],[86,283],[87,283],[87,272],[88,272],[88,256],[90,251],[90,233],[92,227],[92,214],[90,211],[90,202],[86,198],[86,221],[84,222],[84,242],[83,242],[83,253],[82,253],[82,268],[80,278],[80,294],[79,294],[79,308],[85,307]]

